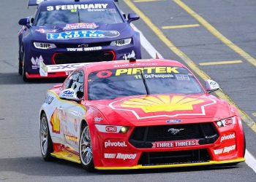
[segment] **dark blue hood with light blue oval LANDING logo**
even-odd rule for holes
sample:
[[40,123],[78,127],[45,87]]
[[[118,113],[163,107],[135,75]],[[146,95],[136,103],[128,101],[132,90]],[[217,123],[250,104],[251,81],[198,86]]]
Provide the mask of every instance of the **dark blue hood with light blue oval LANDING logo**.
[[133,35],[128,23],[95,24],[73,23],[56,26],[34,26],[31,28],[34,41],[89,43],[126,39]]

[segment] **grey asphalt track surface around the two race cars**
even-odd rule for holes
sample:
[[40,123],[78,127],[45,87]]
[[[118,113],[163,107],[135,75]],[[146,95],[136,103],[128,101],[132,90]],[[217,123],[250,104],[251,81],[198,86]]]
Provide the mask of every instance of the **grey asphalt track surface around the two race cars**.
[[[182,2],[250,58],[237,47],[225,44],[226,39],[219,39],[207,23],[192,16],[195,13],[189,14]],[[255,171],[245,162],[222,167],[87,173],[71,162],[43,161],[39,150],[38,112],[46,90],[61,80],[24,83],[18,76],[18,20],[34,14],[34,9],[27,9],[26,3],[26,0],[0,1],[0,181],[256,181]],[[223,92],[251,119],[244,123],[244,130],[246,149],[255,157],[256,67],[251,58],[256,58],[256,1],[125,0],[120,1],[119,6],[126,13],[132,12],[135,8],[131,3],[159,28],[165,39],[219,82]],[[145,19],[134,24],[164,58],[186,64],[186,58],[173,52],[173,47],[167,47],[167,42]],[[177,28],[177,25],[192,27]],[[162,26],[174,27],[164,29]],[[143,58],[151,58],[144,49]],[[200,63],[234,60],[241,63],[200,66]]]

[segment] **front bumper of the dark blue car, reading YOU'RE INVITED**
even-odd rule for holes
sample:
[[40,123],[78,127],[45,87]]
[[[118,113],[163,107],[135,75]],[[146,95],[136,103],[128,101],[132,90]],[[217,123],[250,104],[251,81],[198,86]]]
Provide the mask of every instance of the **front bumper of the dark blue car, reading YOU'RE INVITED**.
[[[75,44],[76,45],[76,44]],[[74,45],[73,45],[74,46]],[[100,47],[100,48],[99,48]],[[94,48],[89,50],[90,48]],[[108,60],[124,60],[130,56],[141,58],[140,47],[135,44],[129,44],[122,47],[113,46],[97,46],[97,47],[82,47],[82,48],[69,48],[62,44],[51,50],[40,50],[34,47],[33,44],[26,49],[25,52],[25,66],[27,78],[39,79],[39,62],[43,61],[45,65],[53,64],[66,64],[66,63],[87,63]],[[81,51],[83,50],[83,51]],[[95,57],[95,60],[94,60]],[[48,78],[53,77],[67,77],[66,73],[53,73],[48,74]],[[44,77],[45,78],[45,77]]]

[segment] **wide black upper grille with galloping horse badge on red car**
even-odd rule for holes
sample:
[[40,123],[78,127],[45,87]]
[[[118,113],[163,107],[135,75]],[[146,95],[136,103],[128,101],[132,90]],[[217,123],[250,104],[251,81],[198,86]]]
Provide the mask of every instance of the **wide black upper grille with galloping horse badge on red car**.
[[[179,130],[172,134],[171,130]],[[200,145],[214,143],[219,134],[212,123],[175,124],[135,127],[129,142],[137,148],[151,148],[156,141],[182,141],[195,139]]]

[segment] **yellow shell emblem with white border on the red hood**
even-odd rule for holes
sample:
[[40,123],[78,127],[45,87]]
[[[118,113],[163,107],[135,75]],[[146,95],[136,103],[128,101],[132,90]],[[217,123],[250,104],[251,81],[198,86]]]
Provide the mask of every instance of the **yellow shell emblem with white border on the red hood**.
[[[205,116],[207,106],[216,100],[206,97],[194,98],[186,95],[148,95],[123,98],[109,104],[110,108],[130,111],[137,119],[176,116]],[[148,114],[154,113],[154,114]]]

